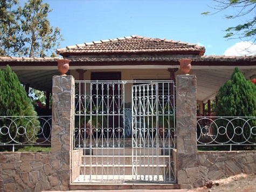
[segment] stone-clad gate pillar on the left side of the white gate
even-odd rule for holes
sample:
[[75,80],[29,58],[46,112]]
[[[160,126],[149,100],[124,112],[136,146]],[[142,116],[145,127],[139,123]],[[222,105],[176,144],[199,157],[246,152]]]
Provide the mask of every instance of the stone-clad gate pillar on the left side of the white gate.
[[68,190],[71,183],[73,97],[73,76],[53,76],[51,165],[56,173],[51,190]]

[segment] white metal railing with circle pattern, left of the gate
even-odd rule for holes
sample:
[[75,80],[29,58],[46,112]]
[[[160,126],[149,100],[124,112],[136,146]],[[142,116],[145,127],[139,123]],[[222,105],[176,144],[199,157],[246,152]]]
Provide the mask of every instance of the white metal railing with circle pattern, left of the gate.
[[51,146],[51,116],[0,116],[0,146]]

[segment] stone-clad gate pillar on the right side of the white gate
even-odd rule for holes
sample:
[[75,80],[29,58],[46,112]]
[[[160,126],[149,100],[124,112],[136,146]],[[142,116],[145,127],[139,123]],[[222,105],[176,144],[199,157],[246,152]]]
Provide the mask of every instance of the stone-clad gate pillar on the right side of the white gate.
[[197,155],[196,76],[176,76],[176,168],[181,188],[191,188],[199,179]]

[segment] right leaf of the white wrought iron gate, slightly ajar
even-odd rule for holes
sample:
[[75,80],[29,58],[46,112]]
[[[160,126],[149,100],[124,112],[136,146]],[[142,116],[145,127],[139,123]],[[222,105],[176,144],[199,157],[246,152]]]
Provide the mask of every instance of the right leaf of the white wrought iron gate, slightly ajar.
[[139,84],[132,93],[133,179],[175,182],[174,84]]

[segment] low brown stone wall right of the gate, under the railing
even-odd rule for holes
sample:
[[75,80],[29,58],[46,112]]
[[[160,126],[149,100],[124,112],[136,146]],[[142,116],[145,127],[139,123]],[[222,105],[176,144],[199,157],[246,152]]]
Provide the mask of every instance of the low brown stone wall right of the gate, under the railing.
[[179,165],[181,187],[201,187],[210,180],[240,173],[256,174],[256,151],[198,152],[194,159],[184,156]]

